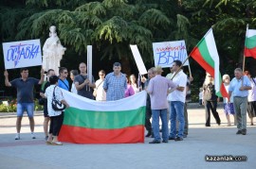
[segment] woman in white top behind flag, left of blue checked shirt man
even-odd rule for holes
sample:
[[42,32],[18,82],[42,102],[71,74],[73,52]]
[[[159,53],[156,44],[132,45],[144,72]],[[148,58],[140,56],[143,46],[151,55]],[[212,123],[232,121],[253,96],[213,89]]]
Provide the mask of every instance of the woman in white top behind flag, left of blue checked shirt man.
[[106,92],[103,89],[103,83],[105,80],[105,71],[99,71],[100,79],[95,82],[96,88],[94,89],[94,94],[96,93],[97,101],[106,101]]

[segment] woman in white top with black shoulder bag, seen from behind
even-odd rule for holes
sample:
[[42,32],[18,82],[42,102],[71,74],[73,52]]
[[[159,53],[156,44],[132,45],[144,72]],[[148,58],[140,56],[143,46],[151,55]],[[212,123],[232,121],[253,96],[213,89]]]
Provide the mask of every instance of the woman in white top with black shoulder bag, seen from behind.
[[57,100],[61,101],[66,106],[66,108],[69,107],[64,100],[64,96],[61,91],[61,88],[58,87],[58,79],[59,79],[58,76],[49,77],[50,86],[47,87],[46,93],[45,93],[45,96],[47,98],[48,115],[50,117],[49,137],[46,144],[54,144],[54,145],[62,145],[62,143],[59,142],[58,140],[58,135],[64,122],[64,112],[52,109],[51,102],[53,98],[53,92]]

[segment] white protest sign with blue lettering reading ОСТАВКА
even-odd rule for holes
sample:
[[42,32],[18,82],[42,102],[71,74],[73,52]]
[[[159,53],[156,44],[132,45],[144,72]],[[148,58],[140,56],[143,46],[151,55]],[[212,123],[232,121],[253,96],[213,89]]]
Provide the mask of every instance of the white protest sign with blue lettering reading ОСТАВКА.
[[5,69],[42,65],[40,40],[3,42]]

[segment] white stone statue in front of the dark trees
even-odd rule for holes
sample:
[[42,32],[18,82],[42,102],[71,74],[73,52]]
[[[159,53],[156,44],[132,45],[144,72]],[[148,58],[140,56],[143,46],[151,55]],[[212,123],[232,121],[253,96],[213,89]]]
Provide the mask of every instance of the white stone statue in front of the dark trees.
[[65,47],[60,42],[56,33],[56,26],[49,27],[49,38],[43,46],[43,68],[44,70],[53,69],[56,75],[59,75],[61,59],[63,59]]

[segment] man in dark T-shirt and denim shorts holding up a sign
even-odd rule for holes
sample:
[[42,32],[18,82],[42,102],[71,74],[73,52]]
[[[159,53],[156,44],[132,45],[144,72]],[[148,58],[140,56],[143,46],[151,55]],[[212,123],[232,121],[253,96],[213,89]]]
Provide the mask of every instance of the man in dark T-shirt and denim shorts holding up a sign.
[[15,78],[14,80],[9,82],[9,74],[8,71],[5,71],[5,84],[7,87],[14,87],[17,89],[17,121],[16,121],[16,129],[17,134],[15,136],[15,140],[20,140],[20,131],[21,131],[21,122],[23,113],[26,110],[27,116],[29,119],[29,126],[31,130],[31,137],[35,139],[34,135],[34,86],[40,85],[44,82],[44,69],[41,69],[41,78],[36,79],[33,77],[28,77],[27,68],[22,68],[20,70],[21,77]]

